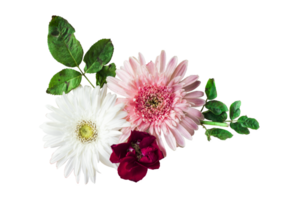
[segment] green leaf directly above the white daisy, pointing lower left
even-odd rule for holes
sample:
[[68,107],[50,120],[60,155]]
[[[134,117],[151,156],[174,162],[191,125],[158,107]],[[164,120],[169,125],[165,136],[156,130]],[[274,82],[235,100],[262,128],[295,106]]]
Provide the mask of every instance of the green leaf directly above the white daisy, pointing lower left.
[[83,77],[78,70],[62,68],[50,76],[44,93],[51,96],[60,96],[63,92],[67,94],[82,84],[82,80]]

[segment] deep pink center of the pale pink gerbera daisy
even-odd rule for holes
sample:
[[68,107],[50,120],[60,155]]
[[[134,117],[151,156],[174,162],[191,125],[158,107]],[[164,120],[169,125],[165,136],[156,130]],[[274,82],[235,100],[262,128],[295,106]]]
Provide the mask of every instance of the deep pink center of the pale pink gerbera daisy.
[[169,115],[175,94],[166,86],[144,86],[133,99],[135,112],[145,122],[163,120]]

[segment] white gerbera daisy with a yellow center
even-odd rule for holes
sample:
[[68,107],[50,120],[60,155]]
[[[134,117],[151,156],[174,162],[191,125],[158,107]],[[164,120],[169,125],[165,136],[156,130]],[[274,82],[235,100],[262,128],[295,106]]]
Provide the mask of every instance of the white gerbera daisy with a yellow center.
[[80,85],[68,94],[54,97],[54,103],[45,104],[45,118],[38,125],[43,132],[43,148],[54,149],[49,163],[69,177],[73,171],[76,183],[95,185],[98,174],[103,175],[97,164],[117,170],[111,163],[111,145],[118,144],[119,131],[130,123],[122,111],[124,104],[115,104],[118,96],[108,92],[107,85]]

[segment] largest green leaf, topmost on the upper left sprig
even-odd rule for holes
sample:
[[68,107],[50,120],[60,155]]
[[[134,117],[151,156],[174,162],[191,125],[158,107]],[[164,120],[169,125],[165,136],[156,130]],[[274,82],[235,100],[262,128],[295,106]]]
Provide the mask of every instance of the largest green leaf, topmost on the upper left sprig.
[[52,59],[64,67],[81,66],[85,49],[75,27],[61,16],[48,23],[46,47]]

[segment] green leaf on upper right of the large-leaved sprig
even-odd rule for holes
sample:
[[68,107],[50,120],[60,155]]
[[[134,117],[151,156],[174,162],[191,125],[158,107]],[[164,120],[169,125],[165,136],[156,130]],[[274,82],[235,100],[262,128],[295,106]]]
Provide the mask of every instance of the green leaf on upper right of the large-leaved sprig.
[[102,38],[95,41],[83,56],[84,72],[96,74],[103,66],[113,60],[115,46],[110,38]]

